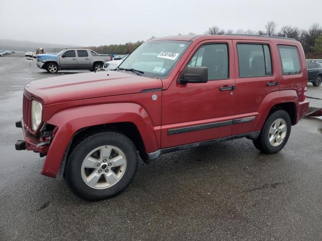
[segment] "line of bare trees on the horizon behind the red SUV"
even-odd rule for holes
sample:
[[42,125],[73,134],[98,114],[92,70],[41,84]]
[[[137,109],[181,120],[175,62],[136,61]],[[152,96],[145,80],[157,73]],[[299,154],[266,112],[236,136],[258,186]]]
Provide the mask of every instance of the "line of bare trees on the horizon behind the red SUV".
[[[304,49],[306,58],[322,58],[322,28],[317,24],[311,25],[307,30],[299,29],[290,25],[277,28],[274,21],[269,21],[262,30],[244,30],[244,29],[221,29],[218,26],[210,27],[204,34],[208,35],[224,35],[224,34],[248,34],[248,35],[267,35],[287,37],[298,40]],[[181,35],[181,34],[179,34]],[[190,32],[189,35],[194,35]],[[152,36],[150,39],[154,39]],[[93,49],[94,51],[102,54],[130,54],[144,41],[128,42],[126,44],[112,44],[101,46],[90,46],[86,48]]]

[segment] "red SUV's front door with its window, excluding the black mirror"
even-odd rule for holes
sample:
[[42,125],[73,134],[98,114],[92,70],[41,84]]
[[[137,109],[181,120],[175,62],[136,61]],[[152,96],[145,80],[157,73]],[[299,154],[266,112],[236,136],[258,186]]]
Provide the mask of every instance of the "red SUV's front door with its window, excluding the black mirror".
[[180,71],[208,67],[207,83],[175,79],[162,94],[161,148],[231,135],[235,78],[231,40],[199,43]]

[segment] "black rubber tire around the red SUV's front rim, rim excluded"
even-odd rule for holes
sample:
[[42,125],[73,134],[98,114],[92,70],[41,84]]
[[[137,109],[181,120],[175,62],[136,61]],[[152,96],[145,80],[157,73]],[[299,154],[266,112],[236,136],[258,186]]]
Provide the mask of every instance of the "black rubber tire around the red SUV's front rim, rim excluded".
[[[82,164],[91,151],[102,146],[119,148],[125,155],[126,169],[123,176],[114,185],[105,189],[95,189],[88,186],[83,180]],[[64,179],[67,186],[76,196],[89,201],[98,201],[113,197],[123,191],[134,177],[137,162],[138,153],[129,138],[117,132],[100,132],[92,134],[76,144],[67,157]]]

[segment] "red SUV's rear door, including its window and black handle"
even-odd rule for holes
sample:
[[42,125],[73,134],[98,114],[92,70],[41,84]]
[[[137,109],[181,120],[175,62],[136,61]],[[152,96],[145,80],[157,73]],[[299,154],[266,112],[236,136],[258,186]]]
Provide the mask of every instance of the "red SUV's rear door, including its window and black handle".
[[279,96],[278,69],[272,65],[277,53],[268,41],[233,40],[236,96],[232,135],[255,130],[259,108],[264,98],[275,92]]

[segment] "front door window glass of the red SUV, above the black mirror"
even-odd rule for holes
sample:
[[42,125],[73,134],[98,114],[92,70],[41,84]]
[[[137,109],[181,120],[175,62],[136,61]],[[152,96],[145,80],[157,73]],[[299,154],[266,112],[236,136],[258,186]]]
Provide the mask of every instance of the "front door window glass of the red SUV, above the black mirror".
[[228,47],[226,44],[201,46],[188,63],[188,67],[207,67],[208,80],[227,79]]

